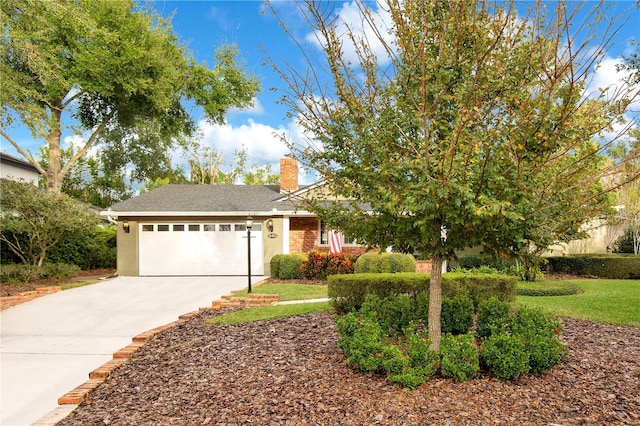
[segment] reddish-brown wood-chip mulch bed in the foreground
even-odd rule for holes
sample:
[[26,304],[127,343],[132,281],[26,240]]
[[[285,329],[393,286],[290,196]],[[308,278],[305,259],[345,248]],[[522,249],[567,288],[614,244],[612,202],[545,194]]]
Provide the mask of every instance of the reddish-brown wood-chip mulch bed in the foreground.
[[564,318],[566,362],[413,390],[353,371],[330,313],[156,335],[59,425],[640,425],[640,328]]

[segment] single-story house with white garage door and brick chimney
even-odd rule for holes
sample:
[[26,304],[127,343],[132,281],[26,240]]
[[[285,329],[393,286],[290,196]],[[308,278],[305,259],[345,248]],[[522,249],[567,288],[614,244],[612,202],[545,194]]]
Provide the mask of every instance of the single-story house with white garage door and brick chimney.
[[[117,222],[118,274],[246,275],[248,216],[254,275],[269,275],[276,254],[328,250],[328,229],[290,201],[311,189],[287,157],[280,185],[165,185],[117,203],[102,214]],[[348,240],[343,248],[363,251]]]

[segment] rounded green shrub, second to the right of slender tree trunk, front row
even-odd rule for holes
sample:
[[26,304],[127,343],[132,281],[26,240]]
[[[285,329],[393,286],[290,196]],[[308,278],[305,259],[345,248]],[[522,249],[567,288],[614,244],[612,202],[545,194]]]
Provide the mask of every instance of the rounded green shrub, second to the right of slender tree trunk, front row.
[[529,352],[518,335],[494,334],[482,342],[482,361],[500,380],[529,372]]

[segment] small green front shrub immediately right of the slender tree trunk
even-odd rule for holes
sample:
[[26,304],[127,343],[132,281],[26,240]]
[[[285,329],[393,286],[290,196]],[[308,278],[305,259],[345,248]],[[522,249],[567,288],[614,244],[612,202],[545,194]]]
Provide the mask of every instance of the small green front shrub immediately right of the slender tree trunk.
[[457,382],[475,377],[480,371],[478,347],[473,333],[453,336],[444,334],[440,340],[440,373]]

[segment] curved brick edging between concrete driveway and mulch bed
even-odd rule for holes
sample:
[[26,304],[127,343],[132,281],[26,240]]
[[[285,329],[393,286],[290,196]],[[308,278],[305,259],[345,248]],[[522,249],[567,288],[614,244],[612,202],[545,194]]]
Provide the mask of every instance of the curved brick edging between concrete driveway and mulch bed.
[[223,296],[222,298],[213,301],[209,308],[200,308],[197,311],[180,315],[177,321],[170,322],[169,324],[153,328],[134,336],[129,345],[113,353],[113,359],[111,361],[106,362],[90,372],[89,380],[58,398],[58,408],[40,418],[38,421],[33,423],[32,426],[55,426],[56,423],[66,418],[99,385],[104,383],[111,373],[124,364],[134,352],[144,346],[156,334],[184,323],[203,311],[219,311],[224,307],[248,308],[253,306],[268,306],[279,300],[277,294],[249,294],[248,297],[232,297],[234,293],[236,292],[232,292],[230,295]]

